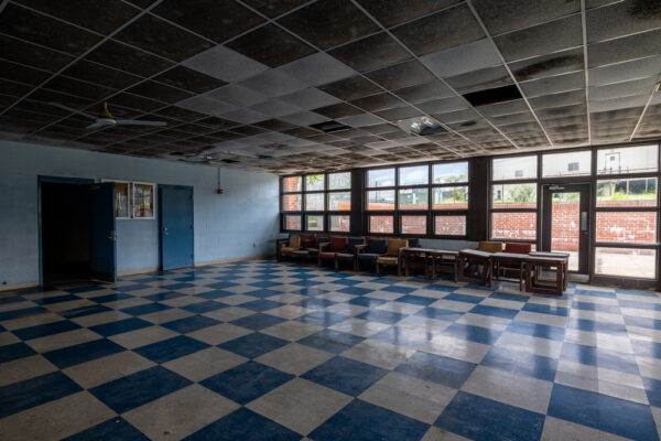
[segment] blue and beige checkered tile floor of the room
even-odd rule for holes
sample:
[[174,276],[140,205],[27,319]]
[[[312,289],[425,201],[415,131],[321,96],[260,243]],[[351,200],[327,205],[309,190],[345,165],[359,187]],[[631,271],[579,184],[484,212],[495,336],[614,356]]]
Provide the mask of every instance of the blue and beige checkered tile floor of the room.
[[[0,438],[658,440],[661,297],[273,260],[0,293]],[[620,438],[621,437],[621,438]]]

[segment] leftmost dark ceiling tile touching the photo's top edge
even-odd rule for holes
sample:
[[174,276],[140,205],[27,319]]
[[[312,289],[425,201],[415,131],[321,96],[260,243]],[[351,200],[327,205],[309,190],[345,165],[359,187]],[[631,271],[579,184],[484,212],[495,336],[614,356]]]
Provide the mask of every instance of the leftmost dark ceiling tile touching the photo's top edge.
[[[18,0],[18,2],[102,34],[115,31],[140,12],[139,9],[120,0],[67,0],[66,8],[51,0]],[[102,11],[102,20],[99,20],[99,11]]]

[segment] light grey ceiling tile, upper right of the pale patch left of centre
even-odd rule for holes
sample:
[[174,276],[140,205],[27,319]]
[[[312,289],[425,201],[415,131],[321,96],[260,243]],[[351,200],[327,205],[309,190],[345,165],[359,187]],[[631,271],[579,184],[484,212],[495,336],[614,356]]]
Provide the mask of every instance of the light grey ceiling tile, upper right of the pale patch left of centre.
[[344,63],[326,54],[317,52],[295,62],[278,67],[279,71],[300,79],[308,86],[318,86],[336,82],[356,74],[356,72]]

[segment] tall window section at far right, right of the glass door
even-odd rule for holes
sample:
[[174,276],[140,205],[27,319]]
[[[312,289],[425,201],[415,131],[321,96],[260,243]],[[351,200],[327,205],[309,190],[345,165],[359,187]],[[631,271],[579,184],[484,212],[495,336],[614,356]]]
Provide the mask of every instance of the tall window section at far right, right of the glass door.
[[657,278],[658,146],[597,150],[596,275]]

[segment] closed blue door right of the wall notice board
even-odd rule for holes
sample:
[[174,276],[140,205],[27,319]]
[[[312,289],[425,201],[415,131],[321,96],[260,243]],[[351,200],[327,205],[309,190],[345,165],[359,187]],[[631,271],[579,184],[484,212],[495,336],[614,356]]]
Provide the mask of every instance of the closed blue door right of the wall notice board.
[[193,187],[159,186],[161,269],[193,266]]

